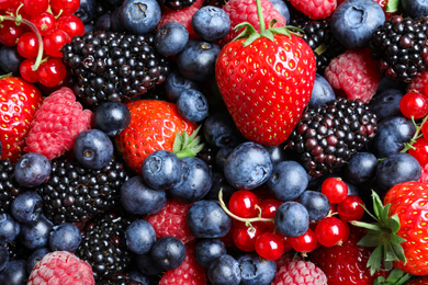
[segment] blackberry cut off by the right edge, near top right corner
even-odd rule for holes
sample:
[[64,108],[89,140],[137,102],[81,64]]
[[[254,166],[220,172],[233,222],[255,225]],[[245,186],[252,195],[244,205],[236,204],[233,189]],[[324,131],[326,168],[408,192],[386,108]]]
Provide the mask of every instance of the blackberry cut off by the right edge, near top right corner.
[[378,59],[379,71],[387,78],[410,82],[428,64],[428,18],[394,15],[373,32],[370,55]]

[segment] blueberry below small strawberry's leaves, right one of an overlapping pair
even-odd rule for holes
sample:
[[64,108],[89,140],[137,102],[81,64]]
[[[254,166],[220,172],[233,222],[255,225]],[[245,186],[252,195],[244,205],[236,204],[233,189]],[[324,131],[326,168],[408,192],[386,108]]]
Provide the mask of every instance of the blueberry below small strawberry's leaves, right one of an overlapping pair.
[[168,190],[173,197],[192,203],[203,198],[213,185],[211,169],[200,158],[181,159],[182,175],[180,182]]

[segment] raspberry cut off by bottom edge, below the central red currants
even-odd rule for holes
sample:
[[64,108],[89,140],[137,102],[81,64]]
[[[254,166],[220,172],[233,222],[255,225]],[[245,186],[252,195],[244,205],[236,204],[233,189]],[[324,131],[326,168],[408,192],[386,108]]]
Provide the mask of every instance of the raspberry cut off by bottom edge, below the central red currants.
[[311,261],[292,261],[277,273],[272,285],[326,285],[327,276]]

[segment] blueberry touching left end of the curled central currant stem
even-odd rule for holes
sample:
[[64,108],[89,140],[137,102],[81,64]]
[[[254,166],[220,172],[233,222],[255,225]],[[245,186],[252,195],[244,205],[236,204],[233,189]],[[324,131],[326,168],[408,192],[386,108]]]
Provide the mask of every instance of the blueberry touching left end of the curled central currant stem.
[[198,201],[185,217],[190,231],[196,238],[224,237],[230,229],[232,218],[216,201]]

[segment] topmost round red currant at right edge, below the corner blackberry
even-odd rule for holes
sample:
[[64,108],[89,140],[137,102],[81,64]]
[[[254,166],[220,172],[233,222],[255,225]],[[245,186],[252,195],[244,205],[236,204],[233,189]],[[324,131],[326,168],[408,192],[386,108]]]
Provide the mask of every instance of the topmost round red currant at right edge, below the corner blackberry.
[[428,98],[418,92],[407,93],[399,101],[399,110],[408,118],[425,117],[428,114]]

